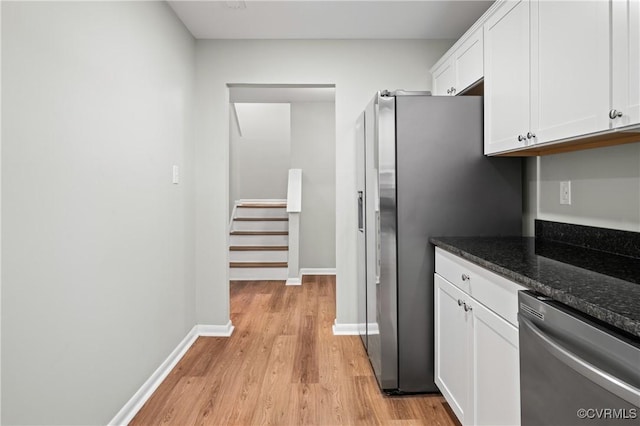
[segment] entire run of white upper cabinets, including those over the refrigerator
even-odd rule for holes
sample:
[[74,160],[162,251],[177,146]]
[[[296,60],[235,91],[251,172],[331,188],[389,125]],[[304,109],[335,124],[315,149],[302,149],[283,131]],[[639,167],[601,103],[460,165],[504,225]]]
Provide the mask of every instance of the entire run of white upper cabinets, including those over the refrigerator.
[[431,71],[435,95],[484,77],[486,155],[637,142],[640,0],[498,0]]

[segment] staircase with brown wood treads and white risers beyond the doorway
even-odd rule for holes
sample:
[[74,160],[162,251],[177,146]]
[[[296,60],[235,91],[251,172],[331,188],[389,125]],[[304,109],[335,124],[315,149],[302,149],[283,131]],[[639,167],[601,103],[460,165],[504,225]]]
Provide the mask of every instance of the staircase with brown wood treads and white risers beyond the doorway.
[[229,229],[229,279],[287,279],[286,201],[241,201],[236,204]]

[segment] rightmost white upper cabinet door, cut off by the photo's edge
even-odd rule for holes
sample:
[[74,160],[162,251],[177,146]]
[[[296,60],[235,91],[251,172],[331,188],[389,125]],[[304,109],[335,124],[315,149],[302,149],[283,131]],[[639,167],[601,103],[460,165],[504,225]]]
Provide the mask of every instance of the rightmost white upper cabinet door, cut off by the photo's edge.
[[640,0],[614,0],[612,13],[611,128],[640,123]]

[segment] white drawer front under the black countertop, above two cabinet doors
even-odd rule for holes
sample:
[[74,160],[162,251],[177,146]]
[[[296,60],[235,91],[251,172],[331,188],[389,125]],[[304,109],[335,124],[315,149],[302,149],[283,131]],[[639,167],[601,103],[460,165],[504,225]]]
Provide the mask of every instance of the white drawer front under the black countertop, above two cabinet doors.
[[518,326],[518,291],[526,288],[436,247],[436,273]]

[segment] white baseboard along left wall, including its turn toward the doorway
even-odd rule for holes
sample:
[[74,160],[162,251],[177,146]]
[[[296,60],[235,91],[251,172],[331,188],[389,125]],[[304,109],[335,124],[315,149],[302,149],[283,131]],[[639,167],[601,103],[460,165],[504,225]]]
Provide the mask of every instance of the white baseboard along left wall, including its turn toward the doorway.
[[142,384],[142,386],[140,386],[140,389],[133,394],[131,399],[129,399],[120,411],[118,411],[118,414],[111,419],[108,425],[115,426],[129,424],[151,395],[153,395],[153,392],[158,389],[158,386],[160,386],[162,381],[169,375],[176,364],[178,364],[178,361],[180,361],[184,354],[187,353],[198,337],[228,337],[233,333],[233,329],[234,327],[231,324],[231,321],[226,325],[194,325],[185,338],[178,343],[178,346],[176,346],[173,352],[169,354],[167,359],[165,359],[164,362],[160,364],[160,367],[158,367],[156,371],[154,371],[153,374],[151,374],[151,376]]

